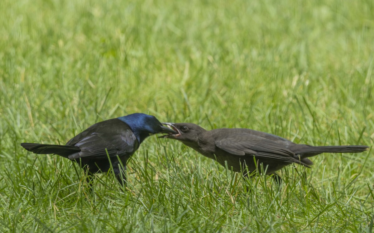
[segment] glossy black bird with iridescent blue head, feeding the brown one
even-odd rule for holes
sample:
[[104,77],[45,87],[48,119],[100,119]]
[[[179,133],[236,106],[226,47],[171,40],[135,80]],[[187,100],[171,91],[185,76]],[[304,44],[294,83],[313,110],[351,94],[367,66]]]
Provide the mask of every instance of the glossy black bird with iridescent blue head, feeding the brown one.
[[[66,145],[24,142],[21,146],[35,154],[58,154],[76,161],[90,175],[96,172],[107,172],[111,163],[119,183],[126,184],[123,170],[126,169],[127,160],[145,138],[157,133],[175,134],[177,132],[163,126],[154,116],[134,113],[91,125],[68,141]],[[105,149],[108,151],[110,161]]]

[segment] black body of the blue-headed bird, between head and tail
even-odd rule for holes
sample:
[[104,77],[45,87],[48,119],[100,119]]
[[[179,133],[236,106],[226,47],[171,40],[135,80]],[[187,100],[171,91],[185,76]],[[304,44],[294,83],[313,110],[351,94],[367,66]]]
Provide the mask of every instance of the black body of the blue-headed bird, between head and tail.
[[125,166],[140,143],[125,122],[110,119],[90,126],[66,145],[79,147],[81,151],[69,155],[68,158],[82,163],[82,167],[88,165],[90,172],[94,173],[99,170],[107,172],[110,169],[108,156],[113,168],[118,167],[118,158]]

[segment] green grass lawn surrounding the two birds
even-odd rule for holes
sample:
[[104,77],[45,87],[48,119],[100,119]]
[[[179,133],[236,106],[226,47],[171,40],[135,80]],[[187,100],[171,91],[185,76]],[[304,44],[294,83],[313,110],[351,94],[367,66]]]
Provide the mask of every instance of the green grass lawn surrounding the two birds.
[[[373,1],[1,1],[1,232],[372,232],[373,150],[245,183],[150,137],[85,186],[78,166],[27,153],[142,112],[310,145],[374,140]],[[248,185],[252,192],[247,193]]]

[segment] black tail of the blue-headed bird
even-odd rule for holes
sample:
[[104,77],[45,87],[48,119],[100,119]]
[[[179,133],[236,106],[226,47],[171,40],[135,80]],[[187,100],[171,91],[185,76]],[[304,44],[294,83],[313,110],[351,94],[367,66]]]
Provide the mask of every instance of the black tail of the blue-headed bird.
[[69,155],[80,151],[78,147],[71,145],[51,145],[23,142],[21,146],[35,154],[58,154],[59,156],[68,158]]

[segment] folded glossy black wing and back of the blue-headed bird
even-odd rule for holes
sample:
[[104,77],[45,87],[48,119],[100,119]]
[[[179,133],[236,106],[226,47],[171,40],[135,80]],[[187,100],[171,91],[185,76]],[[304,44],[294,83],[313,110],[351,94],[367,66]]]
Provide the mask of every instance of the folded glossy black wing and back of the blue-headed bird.
[[110,119],[96,123],[78,134],[66,145],[79,147],[81,151],[71,154],[69,159],[90,157],[105,159],[109,157],[130,156],[140,143],[130,127],[119,119]]

